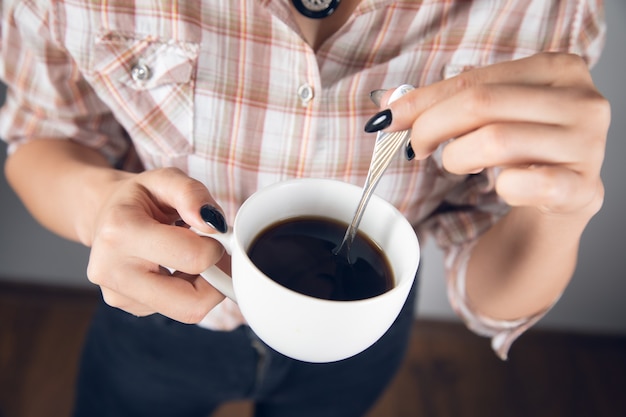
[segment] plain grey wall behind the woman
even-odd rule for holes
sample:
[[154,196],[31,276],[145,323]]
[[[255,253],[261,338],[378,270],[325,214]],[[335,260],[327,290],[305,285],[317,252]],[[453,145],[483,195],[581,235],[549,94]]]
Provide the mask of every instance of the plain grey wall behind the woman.
[[[626,335],[626,2],[606,0],[608,37],[605,52],[592,74],[612,104],[603,178],[606,201],[583,236],[578,268],[560,302],[539,327]],[[0,89],[2,97],[4,88]],[[0,143],[0,162],[6,146]],[[89,251],[39,226],[0,174],[0,281],[60,287],[93,287],[85,276]],[[445,295],[442,256],[424,247],[418,315],[457,321]],[[559,259],[554,259],[559,262]],[[95,287],[93,287],[95,290]]]

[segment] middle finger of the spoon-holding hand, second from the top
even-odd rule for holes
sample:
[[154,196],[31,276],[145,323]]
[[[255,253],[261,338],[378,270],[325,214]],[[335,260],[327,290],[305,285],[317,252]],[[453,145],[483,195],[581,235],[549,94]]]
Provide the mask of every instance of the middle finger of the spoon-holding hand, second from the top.
[[586,92],[520,85],[481,85],[425,110],[412,126],[416,158],[430,155],[439,144],[494,123],[571,126],[585,116]]

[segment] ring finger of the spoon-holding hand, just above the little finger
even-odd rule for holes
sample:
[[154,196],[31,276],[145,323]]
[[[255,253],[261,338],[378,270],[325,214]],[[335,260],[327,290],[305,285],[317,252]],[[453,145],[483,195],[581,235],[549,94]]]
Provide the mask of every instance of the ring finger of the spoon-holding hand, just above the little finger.
[[[453,174],[471,174],[491,167],[566,165],[576,168],[586,147],[569,140],[562,126],[533,123],[493,123],[457,137],[445,145],[443,167]],[[568,141],[568,146],[563,146]]]

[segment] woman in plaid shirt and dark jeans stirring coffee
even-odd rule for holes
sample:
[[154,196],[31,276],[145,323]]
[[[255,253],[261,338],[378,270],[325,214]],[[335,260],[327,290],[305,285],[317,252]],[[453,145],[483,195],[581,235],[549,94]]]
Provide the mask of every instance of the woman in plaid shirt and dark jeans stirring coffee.
[[[43,225],[91,247],[104,300],[76,415],[205,416],[238,398],[259,416],[363,415],[402,359],[412,299],[362,354],[293,361],[198,277],[228,270],[223,249],[173,224],[223,229],[287,178],[361,185],[371,132],[412,128],[377,192],[445,250],[452,305],[502,358],[567,285],[602,204],[610,111],[588,71],[600,0],[2,12],[7,178]],[[387,105],[404,83],[418,88]]]

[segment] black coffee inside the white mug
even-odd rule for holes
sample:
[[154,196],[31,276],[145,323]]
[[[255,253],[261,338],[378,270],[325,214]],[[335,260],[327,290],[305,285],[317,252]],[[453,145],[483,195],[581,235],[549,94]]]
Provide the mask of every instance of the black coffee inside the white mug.
[[357,233],[351,262],[335,255],[345,223],[297,217],[269,226],[254,239],[248,256],[268,277],[291,290],[328,300],[361,300],[393,287],[391,267],[380,248]]

